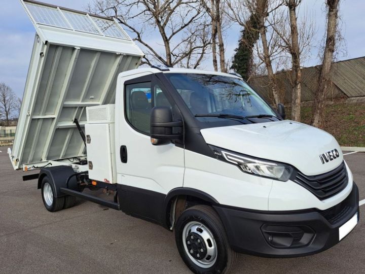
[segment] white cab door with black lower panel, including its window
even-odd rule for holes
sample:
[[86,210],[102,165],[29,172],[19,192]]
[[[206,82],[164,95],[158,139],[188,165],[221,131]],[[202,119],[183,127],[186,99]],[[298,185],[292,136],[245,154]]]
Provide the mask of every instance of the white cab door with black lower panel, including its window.
[[183,184],[184,147],[172,142],[151,144],[151,110],[177,106],[154,75],[126,80],[117,90],[121,92],[116,102],[120,108],[116,141],[121,207],[126,213],[160,222],[166,194]]

